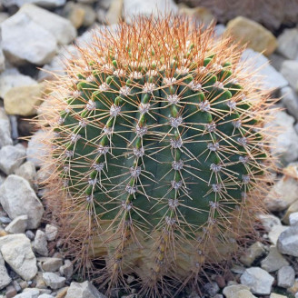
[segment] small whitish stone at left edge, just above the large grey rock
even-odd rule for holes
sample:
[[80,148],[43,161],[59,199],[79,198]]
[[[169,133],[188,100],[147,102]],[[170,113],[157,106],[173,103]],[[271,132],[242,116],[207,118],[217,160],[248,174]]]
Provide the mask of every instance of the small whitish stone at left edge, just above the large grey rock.
[[13,174],[25,160],[25,147],[22,144],[6,145],[0,149],[0,170]]

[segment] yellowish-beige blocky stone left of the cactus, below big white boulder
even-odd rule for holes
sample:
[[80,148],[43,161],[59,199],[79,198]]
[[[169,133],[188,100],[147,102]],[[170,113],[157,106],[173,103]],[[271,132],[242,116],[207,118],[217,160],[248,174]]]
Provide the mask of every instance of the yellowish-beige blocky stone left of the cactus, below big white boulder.
[[32,116],[36,114],[36,107],[41,104],[43,85],[18,86],[11,88],[4,97],[5,112]]

